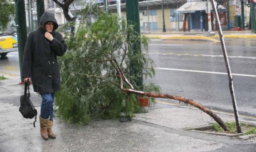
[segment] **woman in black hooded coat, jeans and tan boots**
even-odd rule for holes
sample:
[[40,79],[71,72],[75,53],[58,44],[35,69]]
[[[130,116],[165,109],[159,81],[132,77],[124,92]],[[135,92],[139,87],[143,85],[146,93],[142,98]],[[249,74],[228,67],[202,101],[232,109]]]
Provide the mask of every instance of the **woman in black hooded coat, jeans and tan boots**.
[[42,97],[40,133],[43,139],[56,138],[52,132],[54,93],[60,90],[59,65],[56,56],[62,56],[66,49],[62,35],[55,30],[58,24],[54,15],[43,13],[39,29],[28,35],[22,63],[22,78],[33,81],[35,92]]

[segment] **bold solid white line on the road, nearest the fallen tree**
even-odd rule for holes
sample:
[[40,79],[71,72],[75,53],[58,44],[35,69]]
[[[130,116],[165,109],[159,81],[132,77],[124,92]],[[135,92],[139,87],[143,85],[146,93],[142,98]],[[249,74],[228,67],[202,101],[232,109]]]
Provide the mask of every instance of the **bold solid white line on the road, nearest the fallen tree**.
[[[155,68],[155,69],[169,70],[169,71],[185,71],[185,72],[197,72],[197,73],[211,73],[211,74],[227,75],[227,73],[211,72],[211,71],[197,71],[197,70],[170,69],[170,68]],[[246,75],[246,74],[237,74],[237,73],[232,73],[232,75],[243,76],[243,77],[256,77],[256,75]]]

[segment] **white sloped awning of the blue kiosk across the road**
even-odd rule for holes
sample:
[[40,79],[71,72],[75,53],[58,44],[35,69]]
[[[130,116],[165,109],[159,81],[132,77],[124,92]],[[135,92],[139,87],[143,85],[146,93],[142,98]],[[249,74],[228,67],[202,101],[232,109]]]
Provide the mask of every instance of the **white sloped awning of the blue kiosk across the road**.
[[[218,9],[226,10],[226,8],[222,5],[219,5]],[[211,4],[210,10],[213,10]],[[176,10],[176,13],[195,13],[195,11],[207,12],[207,2],[186,2],[184,5]]]

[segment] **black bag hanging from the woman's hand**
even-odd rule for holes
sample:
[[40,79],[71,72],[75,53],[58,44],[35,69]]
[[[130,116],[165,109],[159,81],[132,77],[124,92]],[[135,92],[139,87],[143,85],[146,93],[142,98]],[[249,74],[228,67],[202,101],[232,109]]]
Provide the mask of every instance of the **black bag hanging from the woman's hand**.
[[[28,92],[27,92],[28,91]],[[37,121],[37,109],[35,109],[33,103],[31,102],[30,98],[30,92],[29,92],[29,81],[26,81],[25,83],[25,89],[24,89],[24,95],[20,96],[20,113],[24,118],[34,118],[34,127],[35,122]]]

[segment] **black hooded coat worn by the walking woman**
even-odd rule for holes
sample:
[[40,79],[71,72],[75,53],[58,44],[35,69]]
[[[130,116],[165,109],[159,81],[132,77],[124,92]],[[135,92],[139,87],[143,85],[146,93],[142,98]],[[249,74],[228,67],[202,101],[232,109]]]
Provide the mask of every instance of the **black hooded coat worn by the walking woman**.
[[[46,32],[44,25],[48,21],[54,22],[51,32],[53,40],[49,41],[44,37]],[[43,13],[39,26],[41,28],[28,35],[24,49],[22,62],[22,77],[31,77],[35,92],[53,93],[60,90],[60,73],[56,56],[62,56],[67,45],[63,37],[55,30],[58,24],[54,15],[49,12]]]

